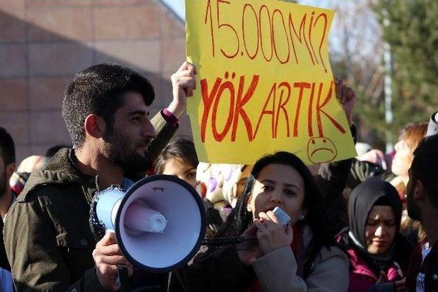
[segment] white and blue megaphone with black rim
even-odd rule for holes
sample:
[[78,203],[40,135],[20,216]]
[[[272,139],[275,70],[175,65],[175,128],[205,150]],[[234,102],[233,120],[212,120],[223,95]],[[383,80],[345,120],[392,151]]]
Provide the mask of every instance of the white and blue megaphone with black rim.
[[177,176],[143,178],[125,192],[99,191],[90,209],[96,237],[114,230],[122,253],[136,267],[168,272],[183,267],[205,236],[205,207],[197,191]]

